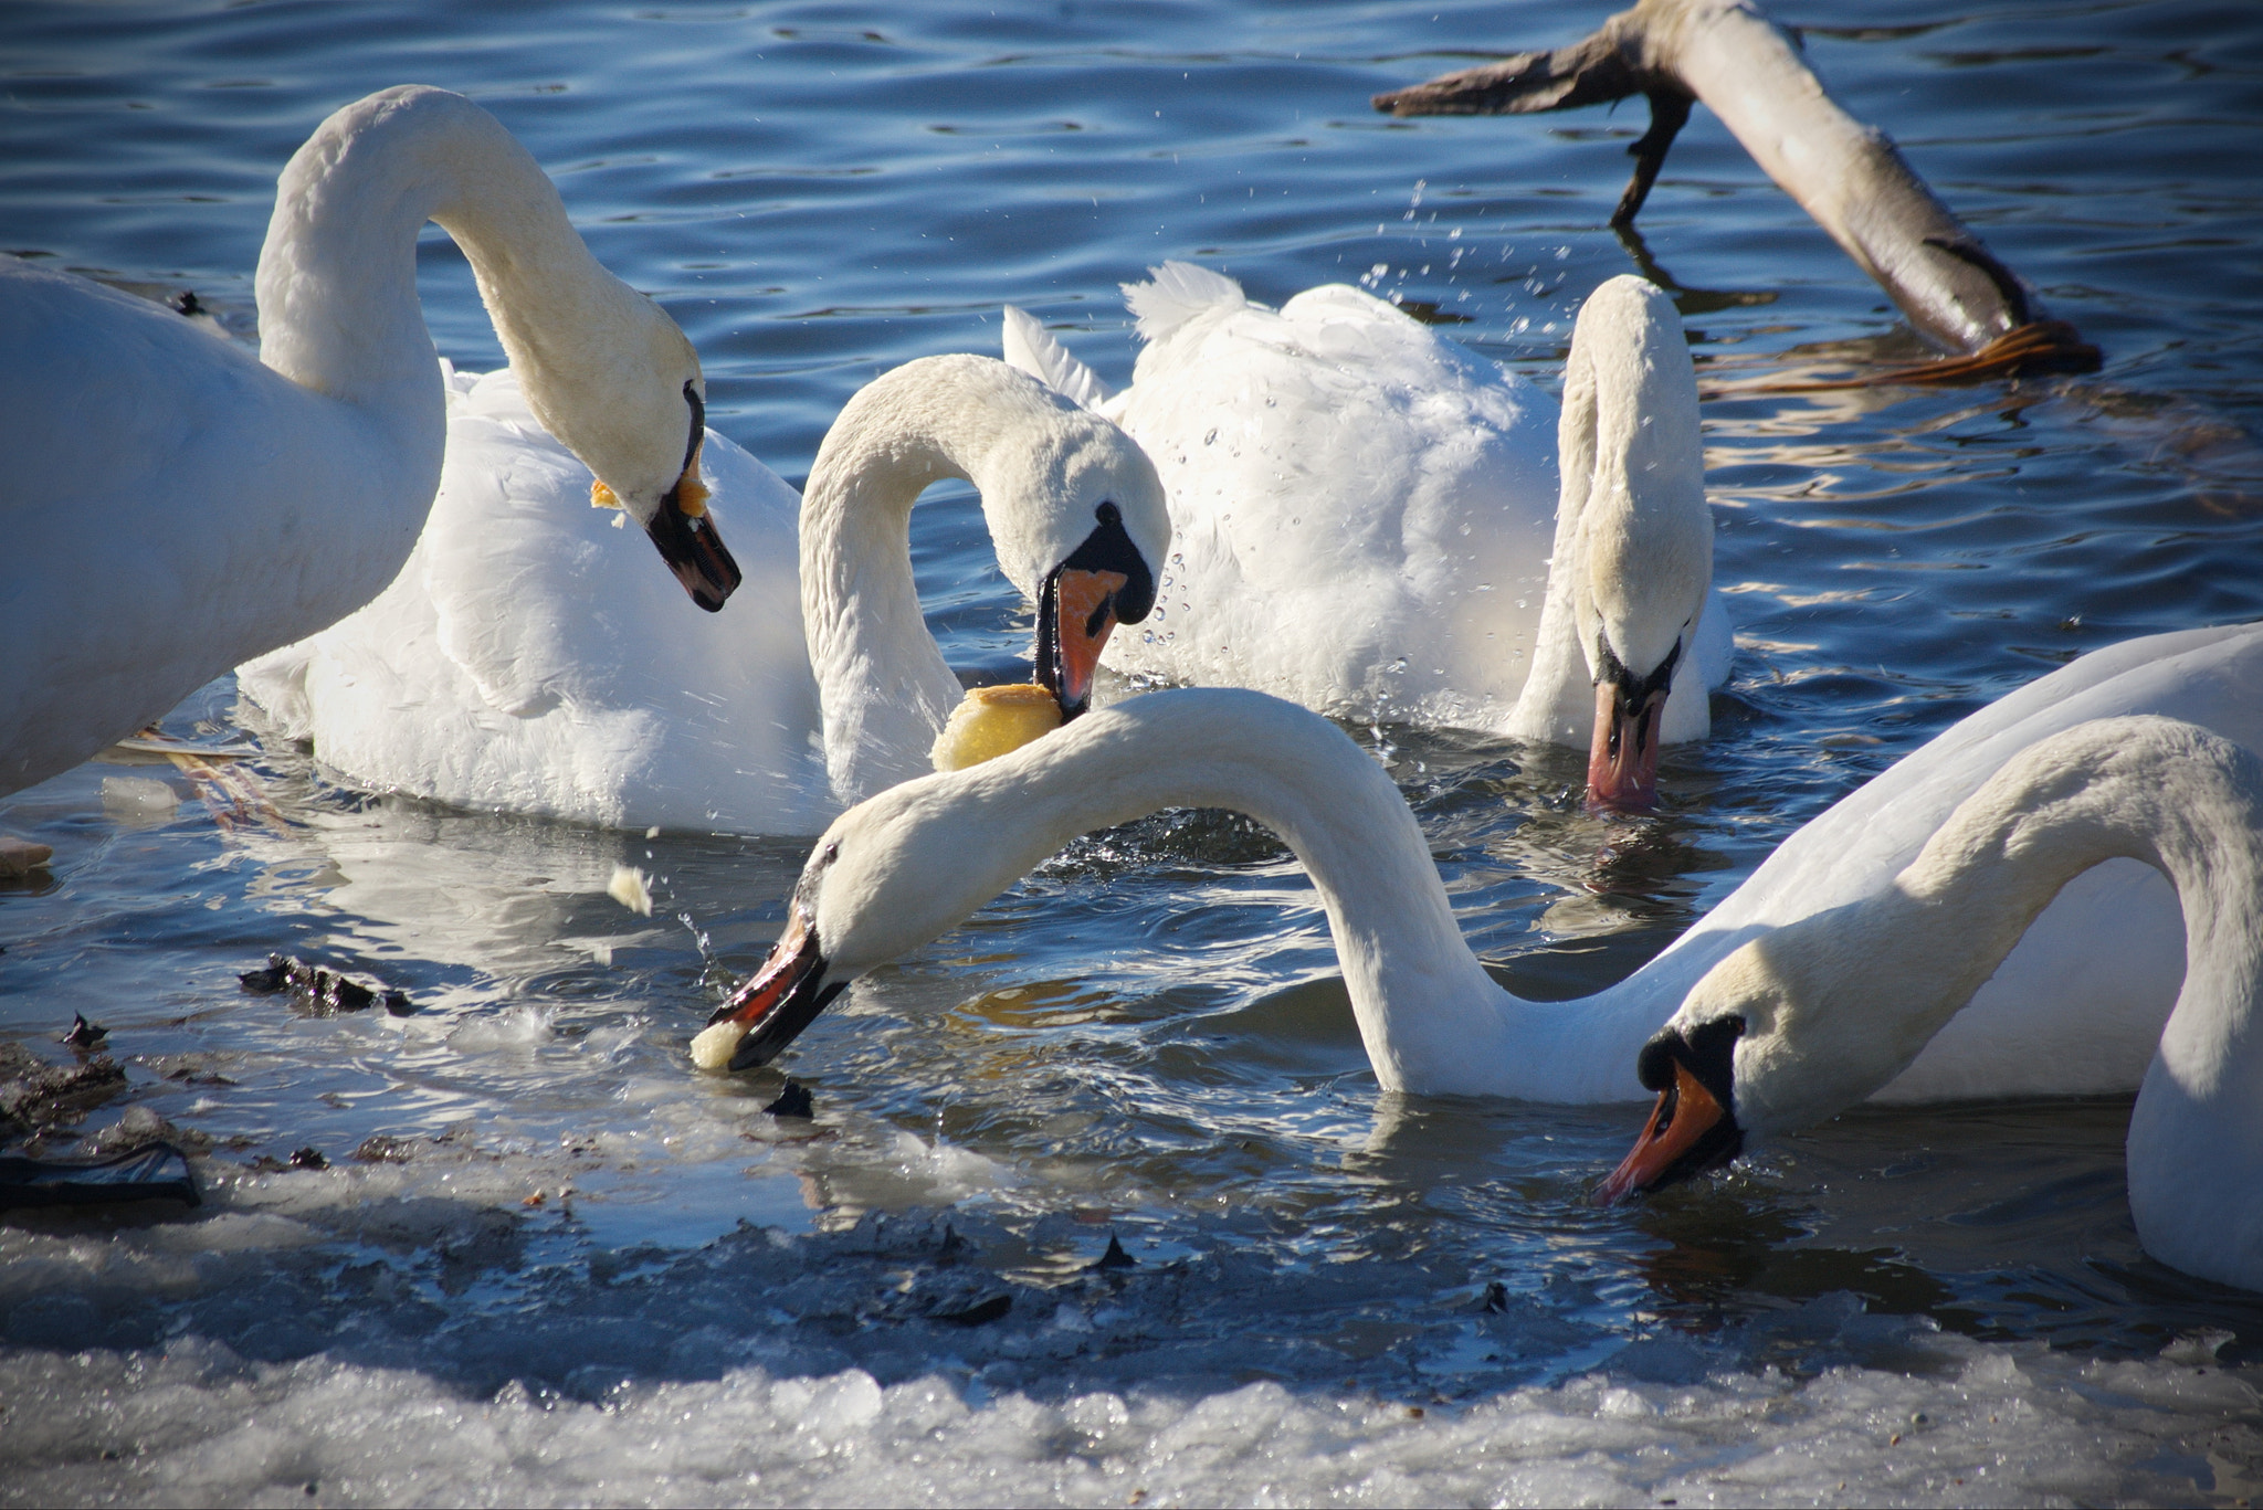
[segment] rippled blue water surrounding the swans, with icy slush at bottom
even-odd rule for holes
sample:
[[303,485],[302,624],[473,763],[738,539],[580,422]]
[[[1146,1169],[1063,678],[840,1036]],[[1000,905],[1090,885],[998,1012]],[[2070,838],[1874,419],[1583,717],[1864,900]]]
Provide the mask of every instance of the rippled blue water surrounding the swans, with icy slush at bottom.
[[[1367,109],[1602,14],[18,0],[0,247],[190,288],[249,335],[292,147],[367,91],[462,88],[699,344],[711,423],[792,480],[878,371],[996,351],[1003,301],[1122,383],[1116,283],[1165,256],[1267,301],[1362,281],[1543,385],[1584,294],[1641,269],[1711,394],[1715,738],[1623,822],[1568,797],[1571,752],[1358,731],[1473,946],[1573,996],[1962,713],[2263,616],[2254,11],[1786,5],[2107,355],[1804,396],[1724,389],[1914,340],[1704,111],[1623,242],[1638,106]],[[439,231],[421,288],[444,355],[500,362]],[[914,548],[946,652],[1003,668],[1025,620],[964,489]],[[235,718],[222,681],[167,727]],[[57,849],[0,881],[0,1039],[63,1064],[84,1012],[127,1071],[41,1146],[161,1116],[208,1191],[186,1220],[0,1225],[0,1501],[2263,1492],[2263,1304],[2143,1256],[2127,1103],[1856,1112],[1600,1213],[1634,1107],[1383,1098],[1297,867],[1181,813],[871,976],[781,1066],[815,1123],[781,1121],[781,1073],[681,1048],[763,955],[797,844],[448,813],[281,745],[233,772],[88,765],[0,801]],[[618,863],[656,876],[649,919],[606,896]],[[419,1010],[244,996],[269,951]],[[1091,1268],[1111,1234],[1136,1263]]]

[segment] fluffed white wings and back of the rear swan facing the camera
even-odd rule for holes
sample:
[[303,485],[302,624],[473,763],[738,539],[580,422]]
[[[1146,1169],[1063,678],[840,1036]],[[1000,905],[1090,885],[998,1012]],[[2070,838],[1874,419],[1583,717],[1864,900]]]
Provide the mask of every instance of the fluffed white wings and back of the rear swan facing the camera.
[[1358,290],[1274,312],[1195,272],[1134,294],[1159,335],[1111,412],[1163,475],[1174,555],[1159,616],[1109,661],[1337,715],[1500,722],[1541,609],[1555,405]]

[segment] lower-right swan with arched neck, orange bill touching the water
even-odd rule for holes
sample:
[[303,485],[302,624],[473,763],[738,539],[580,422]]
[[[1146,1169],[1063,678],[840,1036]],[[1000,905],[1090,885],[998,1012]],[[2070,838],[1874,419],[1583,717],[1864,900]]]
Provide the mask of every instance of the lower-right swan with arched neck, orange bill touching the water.
[[[1747,1136],[1894,1080],[2102,860],[2154,867],[2184,908],[2184,985],[2129,1116],[2139,1241],[2188,1275],[2263,1290],[2263,761],[2166,718],[2030,745],[1890,885],[1713,967],[1643,1048],[1659,1107],[1598,1200],[1727,1164]],[[2055,1026],[2030,1053],[2077,1035]]]

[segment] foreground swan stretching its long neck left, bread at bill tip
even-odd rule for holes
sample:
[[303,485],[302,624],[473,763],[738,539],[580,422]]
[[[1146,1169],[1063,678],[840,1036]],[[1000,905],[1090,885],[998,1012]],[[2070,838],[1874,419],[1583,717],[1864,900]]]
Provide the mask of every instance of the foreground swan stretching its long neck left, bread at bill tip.
[[[1428,844],[1371,756],[1272,697],[1152,693],[844,813],[803,869],[785,937],[717,1012],[702,1057],[754,1028],[733,1064],[769,1059],[831,992],[950,928],[1070,835],[1165,806],[1215,806],[1270,826],[1313,874],[1385,1089],[1638,1100],[1636,1053],[1720,960],[1869,896],[2021,749],[2123,713],[2263,745],[2263,625],[2129,641],[2032,681],[1799,829],[1627,980],[1584,1001],[1528,1003],[1462,944]],[[2129,860],[2086,872],[1881,1096],[2136,1087],[2177,994],[2182,937],[2159,874]],[[2039,1055],[2039,1041],[2053,1053]]]

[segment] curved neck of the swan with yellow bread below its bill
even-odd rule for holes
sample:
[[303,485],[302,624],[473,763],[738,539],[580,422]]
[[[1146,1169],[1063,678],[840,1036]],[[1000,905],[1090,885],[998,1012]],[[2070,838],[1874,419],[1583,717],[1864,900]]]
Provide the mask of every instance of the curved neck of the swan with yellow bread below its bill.
[[930,767],[960,681],[928,634],[912,582],[912,505],[944,478],[982,494],[1000,566],[1025,595],[1034,566],[1000,509],[1032,453],[1059,451],[1073,405],[978,355],[937,355],[876,378],[833,421],[801,498],[801,625],[824,706],[826,770],[842,801]]

